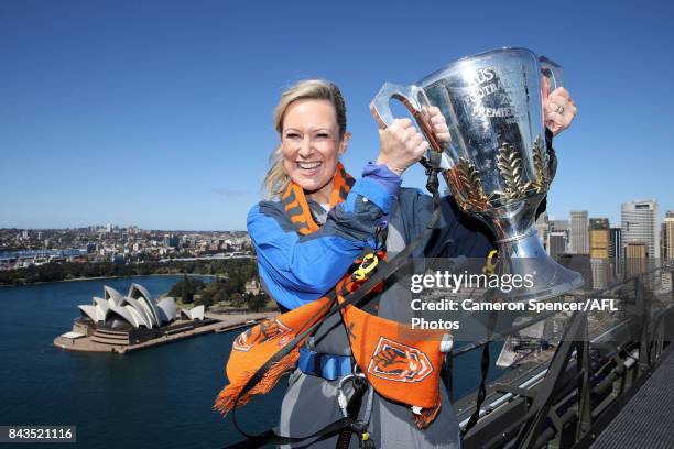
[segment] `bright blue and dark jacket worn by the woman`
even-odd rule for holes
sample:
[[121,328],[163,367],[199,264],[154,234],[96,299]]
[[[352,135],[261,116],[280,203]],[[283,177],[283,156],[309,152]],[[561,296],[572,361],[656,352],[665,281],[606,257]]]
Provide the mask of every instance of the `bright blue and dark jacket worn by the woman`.
[[[371,167],[370,167],[371,168]],[[389,172],[390,173],[390,172]],[[389,179],[390,180],[390,179]],[[248,215],[248,231],[258,254],[262,285],[283,308],[292,309],[328,292],[367,247],[376,248],[379,228],[394,228],[404,242],[421,234],[433,211],[432,198],[417,189],[391,188],[381,172],[366,167],[346,201],[329,213],[315,201],[309,208],[322,228],[300,236],[281,201],[261,201]],[[416,256],[485,258],[494,248],[491,231],[443,198],[442,219]]]

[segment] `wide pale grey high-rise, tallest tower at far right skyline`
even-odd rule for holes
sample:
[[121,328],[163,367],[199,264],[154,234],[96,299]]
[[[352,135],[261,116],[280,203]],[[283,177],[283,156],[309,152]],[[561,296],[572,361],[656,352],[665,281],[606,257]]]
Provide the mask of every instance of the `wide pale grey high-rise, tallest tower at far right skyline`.
[[660,259],[660,213],[657,201],[635,200],[622,204],[622,244],[644,243],[646,258]]

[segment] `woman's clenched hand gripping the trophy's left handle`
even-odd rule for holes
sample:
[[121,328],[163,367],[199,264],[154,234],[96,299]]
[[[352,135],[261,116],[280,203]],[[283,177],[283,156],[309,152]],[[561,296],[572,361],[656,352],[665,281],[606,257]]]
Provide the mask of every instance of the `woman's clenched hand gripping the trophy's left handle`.
[[428,150],[428,142],[410,119],[396,119],[390,127],[380,129],[379,141],[381,146],[377,163],[385,164],[399,176]]

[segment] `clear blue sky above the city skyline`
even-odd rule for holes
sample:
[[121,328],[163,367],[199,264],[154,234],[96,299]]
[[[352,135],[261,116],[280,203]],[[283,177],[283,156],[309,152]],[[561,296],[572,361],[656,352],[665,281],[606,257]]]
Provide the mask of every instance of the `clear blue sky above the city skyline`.
[[[579,113],[555,143],[548,211],[674,209],[668,2],[0,2],[0,227],[243,229],[276,143],[273,107],[307,77],[347,100],[359,174],[368,103],[458,57],[524,46],[565,67]],[[404,177],[424,184],[421,168]]]

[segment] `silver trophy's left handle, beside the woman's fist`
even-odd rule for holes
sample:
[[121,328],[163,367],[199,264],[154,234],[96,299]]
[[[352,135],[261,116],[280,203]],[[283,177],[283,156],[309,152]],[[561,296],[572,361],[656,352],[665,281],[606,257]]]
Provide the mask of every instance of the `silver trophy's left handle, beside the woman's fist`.
[[414,117],[414,120],[421,128],[422,132],[426,136],[428,144],[433,150],[438,153],[443,152],[443,147],[441,146],[435,133],[433,132],[433,128],[431,123],[424,118],[422,111],[422,105],[417,100],[417,96],[421,96],[427,103],[428,101],[425,99],[424,91],[417,86],[403,86],[396,85],[393,83],[384,83],[384,85],[379,90],[379,94],[372,99],[370,102],[370,111],[372,111],[372,116],[374,116],[374,120],[379,123],[382,129],[385,129],[393,124],[393,112],[391,112],[390,101],[392,98],[396,99]]

